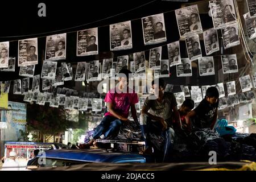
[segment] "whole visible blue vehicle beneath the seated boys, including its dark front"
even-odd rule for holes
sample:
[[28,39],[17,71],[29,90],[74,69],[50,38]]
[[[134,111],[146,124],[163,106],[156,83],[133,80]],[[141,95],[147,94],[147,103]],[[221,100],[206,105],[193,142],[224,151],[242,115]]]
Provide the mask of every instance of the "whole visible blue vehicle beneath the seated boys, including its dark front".
[[146,163],[149,159],[132,152],[112,152],[105,149],[48,150],[31,159],[30,166],[61,167],[86,163]]

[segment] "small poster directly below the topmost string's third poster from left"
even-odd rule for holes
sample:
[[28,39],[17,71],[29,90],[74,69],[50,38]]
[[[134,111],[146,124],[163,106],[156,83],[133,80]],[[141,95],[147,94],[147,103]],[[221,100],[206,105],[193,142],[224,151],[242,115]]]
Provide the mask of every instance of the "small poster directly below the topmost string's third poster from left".
[[54,80],[56,75],[57,62],[44,61],[41,73],[41,78],[46,78],[48,80]]

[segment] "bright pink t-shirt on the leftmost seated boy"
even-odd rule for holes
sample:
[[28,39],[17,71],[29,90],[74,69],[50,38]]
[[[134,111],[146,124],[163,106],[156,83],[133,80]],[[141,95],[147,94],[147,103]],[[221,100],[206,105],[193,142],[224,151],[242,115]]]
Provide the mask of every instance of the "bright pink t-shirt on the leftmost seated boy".
[[[115,92],[116,90],[116,92]],[[138,95],[135,93],[133,89],[129,88],[128,93],[121,93],[118,88],[110,89],[109,92],[106,94],[105,102],[112,102],[114,104],[114,110],[117,114],[122,115],[122,117],[127,118],[130,111],[130,106],[132,104],[138,103]],[[106,115],[112,115],[108,111]]]

